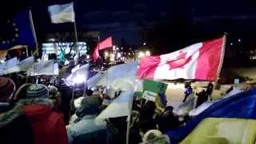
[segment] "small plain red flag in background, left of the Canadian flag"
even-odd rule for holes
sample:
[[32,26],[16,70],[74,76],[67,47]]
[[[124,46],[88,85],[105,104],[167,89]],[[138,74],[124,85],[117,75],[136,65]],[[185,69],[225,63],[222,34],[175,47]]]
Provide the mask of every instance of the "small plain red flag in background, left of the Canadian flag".
[[112,46],[113,46],[112,37],[106,38],[104,41],[99,42],[94,49],[94,54],[93,54],[94,62],[96,62],[97,59],[99,58],[99,53],[98,53],[99,50],[103,50]]

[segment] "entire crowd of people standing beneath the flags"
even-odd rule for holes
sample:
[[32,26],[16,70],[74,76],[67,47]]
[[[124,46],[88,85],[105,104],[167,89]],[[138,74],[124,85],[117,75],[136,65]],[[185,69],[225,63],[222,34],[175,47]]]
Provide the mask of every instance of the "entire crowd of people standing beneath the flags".
[[[12,78],[0,77],[1,143],[169,144],[166,132],[178,129],[190,120],[187,116],[175,115],[173,106],[166,106],[164,91],[159,92],[155,102],[134,98],[131,117],[128,117],[129,140],[126,141],[126,116],[97,118],[114,98],[122,94],[121,90],[115,92],[114,98],[110,98],[106,87],[101,86],[74,94],[74,87],[66,86],[62,80],[38,78],[38,84],[19,86]],[[183,102],[193,93],[190,83],[186,83],[185,88]],[[197,93],[196,107],[206,102],[212,91],[213,84],[209,83],[206,90]]]

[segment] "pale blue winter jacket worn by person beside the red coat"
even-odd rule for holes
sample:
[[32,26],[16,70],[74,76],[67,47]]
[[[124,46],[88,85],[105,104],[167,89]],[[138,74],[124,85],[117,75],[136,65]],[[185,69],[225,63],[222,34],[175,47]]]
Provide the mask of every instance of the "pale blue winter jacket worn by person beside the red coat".
[[106,122],[96,121],[96,115],[85,115],[82,119],[67,128],[70,144],[109,142]]

